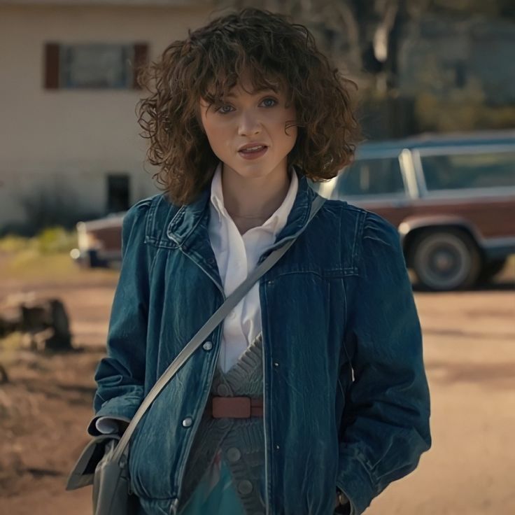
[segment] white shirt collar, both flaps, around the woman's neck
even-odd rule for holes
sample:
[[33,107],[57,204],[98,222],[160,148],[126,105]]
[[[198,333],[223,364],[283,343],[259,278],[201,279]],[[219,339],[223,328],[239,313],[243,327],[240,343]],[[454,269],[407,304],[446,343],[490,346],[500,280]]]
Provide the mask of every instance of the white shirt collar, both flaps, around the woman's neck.
[[[267,230],[273,234],[278,234],[278,232],[285,227],[288,215],[297,196],[297,190],[299,189],[299,179],[293,167],[290,167],[290,178],[290,187],[288,188],[283,203],[271,214],[266,222],[260,225],[261,229]],[[213,175],[213,180],[211,181],[211,206],[215,209],[220,221],[222,218],[226,220],[230,218],[223,202],[221,161],[218,163],[215,174]]]

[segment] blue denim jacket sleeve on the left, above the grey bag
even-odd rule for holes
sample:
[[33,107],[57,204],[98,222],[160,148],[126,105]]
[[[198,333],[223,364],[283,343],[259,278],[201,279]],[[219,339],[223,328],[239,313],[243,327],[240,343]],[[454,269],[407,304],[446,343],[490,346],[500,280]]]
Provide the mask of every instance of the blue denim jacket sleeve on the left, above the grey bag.
[[115,290],[107,335],[107,355],[94,376],[92,418],[87,432],[99,435],[96,421],[101,416],[129,420],[143,401],[150,245],[145,243],[150,200],[134,204],[122,223],[122,267]]

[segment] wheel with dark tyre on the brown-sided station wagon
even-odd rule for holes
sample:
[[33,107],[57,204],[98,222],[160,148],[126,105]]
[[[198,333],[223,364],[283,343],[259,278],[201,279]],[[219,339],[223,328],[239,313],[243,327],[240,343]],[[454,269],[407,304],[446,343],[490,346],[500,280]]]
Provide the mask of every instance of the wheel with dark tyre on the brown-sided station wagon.
[[410,262],[418,281],[435,291],[470,288],[481,270],[481,255],[472,238],[451,229],[418,234]]

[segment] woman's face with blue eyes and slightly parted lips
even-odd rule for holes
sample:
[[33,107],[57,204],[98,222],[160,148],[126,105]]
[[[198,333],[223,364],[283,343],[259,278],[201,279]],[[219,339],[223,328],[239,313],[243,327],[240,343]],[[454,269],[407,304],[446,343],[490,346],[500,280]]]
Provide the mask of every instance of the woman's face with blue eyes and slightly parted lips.
[[[244,87],[241,87],[241,86]],[[225,166],[244,178],[258,178],[269,174],[286,174],[287,157],[297,139],[295,106],[285,106],[283,91],[253,92],[252,85],[244,77],[220,104],[208,108],[200,101],[202,125],[216,156]],[[242,146],[264,146],[256,153],[245,153]]]

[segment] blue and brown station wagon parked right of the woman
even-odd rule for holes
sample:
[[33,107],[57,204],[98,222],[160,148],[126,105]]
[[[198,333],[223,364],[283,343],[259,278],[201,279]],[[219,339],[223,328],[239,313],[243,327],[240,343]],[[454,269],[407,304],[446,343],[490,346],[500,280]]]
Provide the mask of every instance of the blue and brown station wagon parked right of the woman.
[[430,290],[487,280],[515,253],[515,131],[363,143],[314,188],[398,227],[407,267]]

